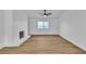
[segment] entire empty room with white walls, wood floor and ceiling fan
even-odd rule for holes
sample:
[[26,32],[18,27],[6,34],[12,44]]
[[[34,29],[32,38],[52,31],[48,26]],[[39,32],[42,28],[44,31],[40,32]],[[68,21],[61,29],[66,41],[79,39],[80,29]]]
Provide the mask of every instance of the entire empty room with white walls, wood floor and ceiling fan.
[[0,54],[85,54],[86,10],[0,10]]

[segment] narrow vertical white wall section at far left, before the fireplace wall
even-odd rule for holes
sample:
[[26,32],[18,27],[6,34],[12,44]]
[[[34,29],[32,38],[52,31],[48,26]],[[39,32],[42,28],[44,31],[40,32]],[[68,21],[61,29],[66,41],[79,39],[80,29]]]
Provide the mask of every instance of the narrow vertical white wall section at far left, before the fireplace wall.
[[11,10],[4,10],[4,46],[12,46],[13,41],[13,16]]

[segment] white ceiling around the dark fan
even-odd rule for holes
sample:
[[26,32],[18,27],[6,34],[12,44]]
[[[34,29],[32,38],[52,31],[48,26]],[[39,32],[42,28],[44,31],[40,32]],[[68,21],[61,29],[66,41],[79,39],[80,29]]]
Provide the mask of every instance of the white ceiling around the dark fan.
[[[44,13],[44,10],[28,10],[27,12],[28,12],[29,17],[37,17],[37,18],[44,17],[44,16],[40,15],[40,13]],[[47,10],[47,12],[52,13],[48,17],[58,18],[58,17],[60,17],[63,10]]]

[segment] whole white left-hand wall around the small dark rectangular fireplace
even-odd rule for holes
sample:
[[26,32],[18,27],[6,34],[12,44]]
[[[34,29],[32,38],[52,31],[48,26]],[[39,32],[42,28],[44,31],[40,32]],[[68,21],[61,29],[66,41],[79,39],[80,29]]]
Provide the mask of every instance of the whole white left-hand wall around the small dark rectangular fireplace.
[[[0,10],[0,49],[3,47],[17,47],[26,41],[28,35],[27,11]],[[24,38],[20,39],[20,31],[24,30]]]

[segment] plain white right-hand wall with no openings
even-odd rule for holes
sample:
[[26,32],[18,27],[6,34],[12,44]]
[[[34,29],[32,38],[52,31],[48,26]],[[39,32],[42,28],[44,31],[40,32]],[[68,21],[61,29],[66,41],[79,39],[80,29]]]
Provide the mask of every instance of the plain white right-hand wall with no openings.
[[60,18],[60,35],[86,51],[86,11],[65,11]]

